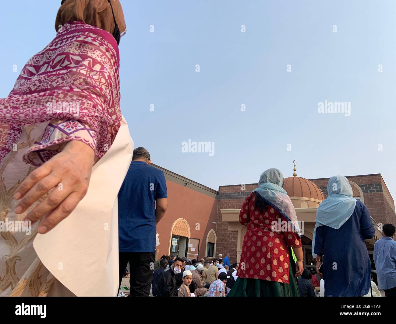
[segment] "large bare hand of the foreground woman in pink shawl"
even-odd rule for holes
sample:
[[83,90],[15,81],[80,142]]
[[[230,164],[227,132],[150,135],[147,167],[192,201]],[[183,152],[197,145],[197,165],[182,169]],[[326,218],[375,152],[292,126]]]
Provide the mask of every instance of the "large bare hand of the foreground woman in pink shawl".
[[35,169],[19,185],[14,195],[21,199],[15,213],[22,214],[42,195],[48,196],[32,209],[24,220],[37,222],[43,216],[38,233],[53,229],[69,216],[88,190],[95,154],[90,146],[78,141],[69,141],[62,152]]

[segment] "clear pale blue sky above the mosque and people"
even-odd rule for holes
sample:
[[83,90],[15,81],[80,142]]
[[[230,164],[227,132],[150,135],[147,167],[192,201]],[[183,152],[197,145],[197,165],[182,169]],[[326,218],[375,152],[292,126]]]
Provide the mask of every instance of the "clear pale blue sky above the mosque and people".
[[[396,2],[121,3],[121,110],[153,163],[217,189],[270,167],[291,176],[297,159],[305,178],[381,173],[396,199]],[[59,4],[2,2],[0,97],[13,64],[55,36]],[[351,116],[318,114],[324,100],[350,102]],[[215,154],[182,153],[188,139]]]

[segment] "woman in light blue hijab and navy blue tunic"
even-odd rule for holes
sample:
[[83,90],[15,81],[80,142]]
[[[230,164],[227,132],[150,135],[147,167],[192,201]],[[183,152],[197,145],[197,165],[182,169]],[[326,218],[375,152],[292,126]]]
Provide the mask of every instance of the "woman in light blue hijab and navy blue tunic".
[[363,296],[370,289],[371,262],[365,239],[375,228],[367,207],[352,197],[345,176],[327,183],[328,197],[316,212],[312,255],[320,273],[323,256],[325,296]]

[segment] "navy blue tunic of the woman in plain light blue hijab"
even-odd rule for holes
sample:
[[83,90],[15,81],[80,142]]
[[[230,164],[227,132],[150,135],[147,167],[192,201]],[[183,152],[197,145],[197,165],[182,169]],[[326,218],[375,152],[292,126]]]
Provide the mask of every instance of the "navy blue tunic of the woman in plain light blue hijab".
[[322,255],[325,296],[362,296],[369,292],[371,262],[364,240],[374,236],[369,211],[356,202],[350,218],[339,228],[316,229],[314,253]]

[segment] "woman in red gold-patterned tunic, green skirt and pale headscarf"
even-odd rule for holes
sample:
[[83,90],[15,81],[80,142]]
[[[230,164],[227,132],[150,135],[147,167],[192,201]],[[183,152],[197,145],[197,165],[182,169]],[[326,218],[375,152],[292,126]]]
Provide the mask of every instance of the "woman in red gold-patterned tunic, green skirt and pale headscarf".
[[[259,187],[242,205],[246,225],[238,279],[228,296],[299,296],[295,279],[303,271],[300,229],[293,204],[282,188],[282,172],[264,171]],[[297,264],[290,258],[295,247]]]

